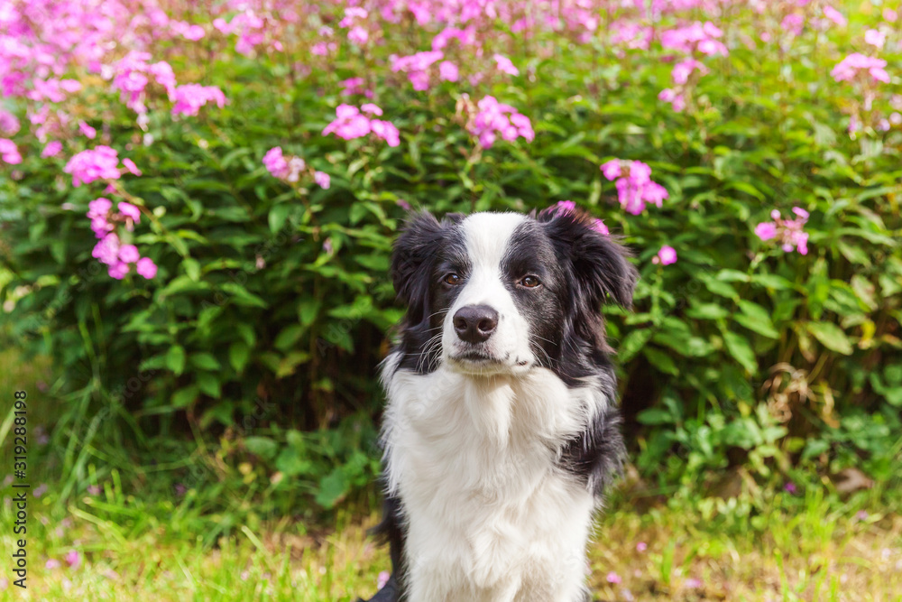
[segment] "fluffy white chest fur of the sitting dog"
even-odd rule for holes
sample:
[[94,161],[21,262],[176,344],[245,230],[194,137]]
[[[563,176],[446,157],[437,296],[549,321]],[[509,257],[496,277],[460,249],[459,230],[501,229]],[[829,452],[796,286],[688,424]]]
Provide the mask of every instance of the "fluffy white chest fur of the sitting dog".
[[429,375],[386,362],[385,459],[400,496],[410,601],[584,599],[596,505],[557,450],[606,400],[556,375]]

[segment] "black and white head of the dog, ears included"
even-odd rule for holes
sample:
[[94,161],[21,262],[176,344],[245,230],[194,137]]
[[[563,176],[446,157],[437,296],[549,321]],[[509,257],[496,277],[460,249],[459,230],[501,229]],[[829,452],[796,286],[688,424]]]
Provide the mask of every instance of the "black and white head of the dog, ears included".
[[543,366],[579,378],[606,348],[603,302],[632,301],[638,273],[627,256],[574,209],[415,214],[391,261],[408,307],[402,362],[472,375]]

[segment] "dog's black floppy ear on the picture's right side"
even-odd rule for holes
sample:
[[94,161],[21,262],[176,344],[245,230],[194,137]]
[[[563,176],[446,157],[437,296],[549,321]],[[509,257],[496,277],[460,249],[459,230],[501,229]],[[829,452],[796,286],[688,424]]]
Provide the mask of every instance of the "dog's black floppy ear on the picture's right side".
[[549,208],[538,214],[558,251],[573,266],[575,291],[597,308],[610,297],[632,307],[632,292],[639,272],[630,264],[630,252],[608,234],[601,223],[579,209]]

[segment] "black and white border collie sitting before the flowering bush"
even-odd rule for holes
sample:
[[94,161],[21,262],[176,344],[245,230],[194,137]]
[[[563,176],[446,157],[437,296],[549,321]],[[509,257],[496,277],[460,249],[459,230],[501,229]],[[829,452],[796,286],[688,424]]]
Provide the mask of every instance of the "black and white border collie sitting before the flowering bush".
[[624,454],[603,302],[628,253],[572,208],[415,215],[382,366],[393,574],[373,600],[584,600],[585,547]]

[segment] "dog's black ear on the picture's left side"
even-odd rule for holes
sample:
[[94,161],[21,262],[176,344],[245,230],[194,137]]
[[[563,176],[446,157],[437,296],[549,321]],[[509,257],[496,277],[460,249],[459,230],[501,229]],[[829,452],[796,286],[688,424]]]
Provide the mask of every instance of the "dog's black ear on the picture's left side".
[[410,215],[391,254],[391,282],[410,318],[428,307],[429,281],[445,228],[428,211]]

